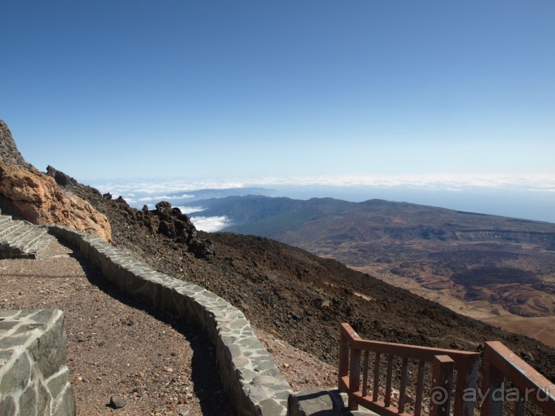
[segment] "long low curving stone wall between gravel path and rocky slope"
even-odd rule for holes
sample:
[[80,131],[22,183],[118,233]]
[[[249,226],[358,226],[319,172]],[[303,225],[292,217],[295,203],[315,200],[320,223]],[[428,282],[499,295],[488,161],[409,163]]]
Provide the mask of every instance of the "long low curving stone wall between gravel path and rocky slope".
[[239,415],[287,415],[291,386],[239,309],[204,287],[156,272],[100,237],[63,226],[48,229],[78,247],[124,292],[201,327],[215,345],[221,382]]

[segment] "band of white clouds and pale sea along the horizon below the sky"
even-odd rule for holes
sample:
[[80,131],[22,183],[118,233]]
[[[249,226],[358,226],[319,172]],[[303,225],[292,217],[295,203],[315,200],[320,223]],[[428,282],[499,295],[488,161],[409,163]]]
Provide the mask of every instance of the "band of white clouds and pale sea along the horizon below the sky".
[[135,208],[146,205],[153,209],[159,201],[171,202],[186,214],[195,212],[191,220],[199,230],[208,232],[223,230],[232,221],[199,215],[204,208],[195,205],[195,200],[206,198],[206,191],[199,190],[213,190],[213,196],[248,195],[253,187],[257,187],[257,195],[349,201],[380,198],[555,222],[555,175],[549,174],[186,178],[112,181],[93,186],[102,193],[121,195]]

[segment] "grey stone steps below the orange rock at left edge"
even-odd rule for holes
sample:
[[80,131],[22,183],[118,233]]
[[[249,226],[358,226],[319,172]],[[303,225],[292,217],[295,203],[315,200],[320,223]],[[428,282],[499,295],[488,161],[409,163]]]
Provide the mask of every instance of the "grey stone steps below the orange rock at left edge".
[[50,239],[47,230],[27,221],[13,220],[0,212],[0,259],[36,259]]

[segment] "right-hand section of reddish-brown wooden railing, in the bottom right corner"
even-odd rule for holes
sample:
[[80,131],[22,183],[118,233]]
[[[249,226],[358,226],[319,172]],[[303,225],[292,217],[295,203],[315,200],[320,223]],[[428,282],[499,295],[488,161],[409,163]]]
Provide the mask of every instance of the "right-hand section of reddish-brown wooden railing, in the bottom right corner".
[[[514,387],[505,389],[509,380]],[[503,402],[514,402],[514,415],[523,416],[526,402],[534,402],[545,415],[555,415],[555,385],[526,364],[501,342],[483,345],[481,416],[497,416]]]

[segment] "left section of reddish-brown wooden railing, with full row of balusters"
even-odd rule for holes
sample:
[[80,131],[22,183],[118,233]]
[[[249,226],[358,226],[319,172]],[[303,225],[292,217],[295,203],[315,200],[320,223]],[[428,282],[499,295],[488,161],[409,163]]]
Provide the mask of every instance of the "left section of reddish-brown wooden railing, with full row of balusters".
[[[370,353],[373,353],[371,395],[369,392]],[[384,355],[387,357],[387,369],[385,372],[384,399],[380,400],[380,366]],[[399,395],[397,405],[393,406],[393,362],[399,359],[401,360]],[[474,414],[475,399],[472,398],[472,395],[466,393],[475,391],[476,388],[479,353],[363,340],[349,324],[342,324],[338,382],[340,391],[347,393],[349,396],[349,409],[358,410],[360,405],[379,415],[410,415],[405,413],[409,360],[417,364],[413,415],[420,416],[422,413],[426,362],[433,366],[429,414],[433,416],[450,415],[455,368],[457,369],[457,377],[452,414],[454,416],[471,416]]]

